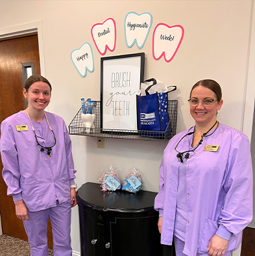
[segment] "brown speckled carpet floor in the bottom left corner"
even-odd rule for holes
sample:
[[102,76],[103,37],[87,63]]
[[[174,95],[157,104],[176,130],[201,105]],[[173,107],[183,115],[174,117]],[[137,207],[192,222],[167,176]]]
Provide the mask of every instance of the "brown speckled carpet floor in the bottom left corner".
[[[29,242],[8,235],[0,235],[0,256],[30,256]],[[51,249],[49,249],[49,256],[53,256]]]

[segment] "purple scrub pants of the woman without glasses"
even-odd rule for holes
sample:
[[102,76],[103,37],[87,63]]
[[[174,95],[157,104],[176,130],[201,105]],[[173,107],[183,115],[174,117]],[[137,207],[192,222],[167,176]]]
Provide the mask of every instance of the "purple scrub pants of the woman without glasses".
[[30,212],[29,220],[23,224],[31,248],[31,256],[48,256],[47,223],[51,220],[53,228],[54,256],[71,256],[71,202],[59,204],[43,211]]

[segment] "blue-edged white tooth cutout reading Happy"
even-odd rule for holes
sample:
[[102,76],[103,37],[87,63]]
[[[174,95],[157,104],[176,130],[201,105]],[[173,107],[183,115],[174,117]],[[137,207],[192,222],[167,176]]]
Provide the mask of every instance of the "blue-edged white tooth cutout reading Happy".
[[87,70],[94,71],[93,52],[89,43],[83,44],[80,49],[73,50],[71,52],[71,60],[82,77],[85,77]]

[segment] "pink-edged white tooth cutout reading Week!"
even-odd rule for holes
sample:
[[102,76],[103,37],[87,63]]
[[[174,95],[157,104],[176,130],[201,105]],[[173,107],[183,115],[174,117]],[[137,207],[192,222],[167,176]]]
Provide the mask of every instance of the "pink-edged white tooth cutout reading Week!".
[[166,62],[175,57],[184,36],[184,28],[181,25],[170,27],[165,23],[156,25],[152,38],[152,54],[155,60],[164,56]]

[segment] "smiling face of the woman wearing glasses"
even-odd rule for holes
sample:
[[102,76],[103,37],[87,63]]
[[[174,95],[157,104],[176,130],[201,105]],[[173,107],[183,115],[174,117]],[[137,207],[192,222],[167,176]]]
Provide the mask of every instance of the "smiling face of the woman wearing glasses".
[[217,111],[221,109],[223,100],[213,101],[210,107],[204,107],[201,102],[202,100],[217,99],[216,94],[204,86],[193,88],[190,98],[199,101],[199,105],[195,107],[190,105],[190,114],[194,118],[196,125],[204,127],[212,126],[217,120]]

